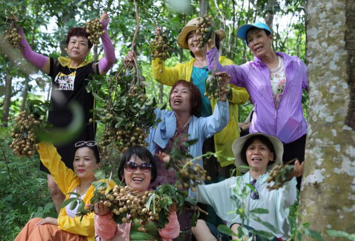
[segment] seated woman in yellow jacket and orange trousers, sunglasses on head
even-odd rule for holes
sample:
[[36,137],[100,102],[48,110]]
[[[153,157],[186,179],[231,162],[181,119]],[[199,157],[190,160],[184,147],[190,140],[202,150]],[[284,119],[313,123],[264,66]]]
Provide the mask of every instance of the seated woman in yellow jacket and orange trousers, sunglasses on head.
[[[40,158],[42,163],[51,172],[56,184],[63,193],[75,192],[81,196],[85,204],[90,203],[94,186],[92,182],[97,179],[94,170],[100,165],[100,152],[94,141],[81,141],[75,144],[74,171],[65,166],[57,149],[52,144],[40,143]],[[105,182],[105,180],[100,180]],[[109,188],[115,183],[111,180]],[[66,194],[65,199],[77,197]],[[62,208],[58,218],[47,217],[33,218],[15,238],[20,240],[95,240],[94,239],[94,214],[91,213],[81,220],[76,217],[78,205],[70,210],[70,203]]]

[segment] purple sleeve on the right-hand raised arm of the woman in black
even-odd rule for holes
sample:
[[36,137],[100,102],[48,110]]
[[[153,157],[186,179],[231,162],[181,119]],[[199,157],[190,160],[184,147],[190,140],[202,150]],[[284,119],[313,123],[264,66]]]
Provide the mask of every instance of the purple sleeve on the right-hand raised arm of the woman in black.
[[115,58],[115,49],[112,45],[109,34],[107,33],[107,25],[109,24],[109,19],[105,20],[102,23],[102,30],[105,30],[105,33],[101,35],[101,41],[103,45],[104,57],[98,62],[98,67],[101,72],[107,73],[112,65],[114,64]]

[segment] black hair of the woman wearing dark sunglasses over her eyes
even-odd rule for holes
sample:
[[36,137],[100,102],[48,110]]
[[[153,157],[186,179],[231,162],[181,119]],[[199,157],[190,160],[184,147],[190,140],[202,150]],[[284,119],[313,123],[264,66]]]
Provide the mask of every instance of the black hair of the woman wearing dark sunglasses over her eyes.
[[154,182],[155,179],[157,178],[157,166],[155,165],[154,157],[147,148],[141,146],[131,147],[123,154],[120,161],[120,165],[118,167],[118,178],[122,180],[122,177],[124,175],[124,165],[126,164],[127,161],[131,159],[132,156],[137,156],[141,160],[152,164],[151,183]]

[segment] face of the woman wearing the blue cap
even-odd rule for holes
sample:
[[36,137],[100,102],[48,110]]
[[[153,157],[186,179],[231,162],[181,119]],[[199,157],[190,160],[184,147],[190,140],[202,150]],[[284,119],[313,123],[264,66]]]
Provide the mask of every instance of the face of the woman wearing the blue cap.
[[273,54],[271,47],[272,40],[272,34],[267,36],[264,29],[252,28],[246,33],[246,43],[253,55],[258,58],[262,58],[267,54]]

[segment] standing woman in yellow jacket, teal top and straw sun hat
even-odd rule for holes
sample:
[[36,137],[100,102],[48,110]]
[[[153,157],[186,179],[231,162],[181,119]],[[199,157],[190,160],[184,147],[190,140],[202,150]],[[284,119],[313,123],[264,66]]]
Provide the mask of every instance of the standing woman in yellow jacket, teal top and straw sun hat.
[[[183,49],[189,49],[190,53],[193,57],[188,62],[178,63],[174,67],[166,67],[164,61],[159,58],[156,58],[152,61],[152,70],[154,78],[161,84],[172,86],[178,80],[186,80],[191,81],[199,90],[202,95],[202,105],[201,105],[201,116],[206,117],[212,115],[212,112],[215,109],[217,100],[212,98],[209,100],[206,96],[204,96],[205,92],[205,80],[208,77],[208,67],[207,67],[207,59],[206,59],[206,46],[202,49],[194,46],[195,41],[195,31],[196,25],[198,23],[198,18],[191,19],[186,26],[183,28],[179,37],[177,38],[177,44]],[[160,28],[156,29],[156,33],[160,31]],[[221,29],[216,31],[216,46],[219,48],[219,42],[226,37],[226,33]],[[221,56],[220,63],[222,65],[232,64],[233,61]],[[160,71],[162,70],[162,72]],[[214,135],[214,138],[210,140],[206,140],[204,144],[204,151],[213,151],[208,146],[215,147],[215,151],[222,151],[226,157],[234,157],[232,152],[232,144],[233,141],[239,137],[239,128],[238,128],[238,105],[244,104],[249,95],[244,88],[236,87],[234,85],[230,85],[230,94],[227,96],[229,101],[229,123],[227,126],[219,133]],[[214,141],[214,145],[212,143]],[[209,144],[208,144],[209,142]],[[218,158],[221,167],[228,166],[233,163],[233,160],[228,161],[226,158],[219,157]],[[208,160],[210,162],[210,160]],[[209,163],[206,163],[209,166]],[[213,163],[211,163],[213,164]],[[204,166],[206,169],[208,166]],[[215,166],[212,166],[215,167]],[[229,169],[226,170],[222,174],[225,178],[229,177]],[[219,167],[217,168],[219,169]],[[223,174],[224,173],[224,174]],[[210,175],[214,176],[214,173],[210,173]]]

